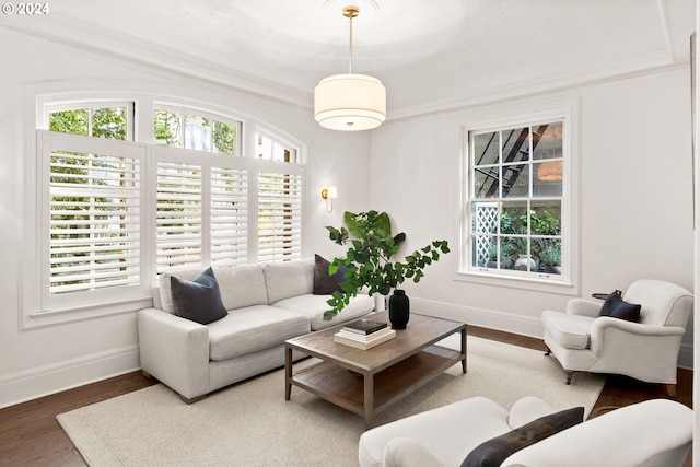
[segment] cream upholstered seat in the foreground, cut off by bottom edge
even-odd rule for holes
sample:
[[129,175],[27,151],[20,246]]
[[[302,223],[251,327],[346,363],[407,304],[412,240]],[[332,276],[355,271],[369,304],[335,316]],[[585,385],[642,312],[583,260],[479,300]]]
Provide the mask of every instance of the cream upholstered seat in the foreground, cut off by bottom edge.
[[[510,411],[485,397],[460,400],[365,431],[360,465],[459,466],[481,443],[552,412],[536,397],[518,400]],[[692,410],[682,404],[646,400],[537,441],[501,467],[681,467],[692,425]]]

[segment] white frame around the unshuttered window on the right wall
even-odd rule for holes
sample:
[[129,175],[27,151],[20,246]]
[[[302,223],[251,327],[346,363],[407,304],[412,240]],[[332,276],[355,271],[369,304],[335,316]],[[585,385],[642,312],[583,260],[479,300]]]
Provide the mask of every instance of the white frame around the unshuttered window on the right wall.
[[[532,108],[540,108],[532,112]],[[513,273],[514,271],[492,268],[480,268],[472,265],[471,257],[471,203],[483,201],[474,198],[474,166],[469,133],[471,131],[497,131],[512,128],[536,126],[539,122],[562,122],[562,212],[561,212],[561,275],[537,272]],[[527,289],[549,293],[575,295],[579,293],[579,166],[580,122],[579,101],[575,98],[559,102],[534,100],[530,103],[520,102],[511,106],[494,106],[470,118],[458,121],[459,131],[459,170],[458,199],[460,208],[457,225],[459,238],[459,264],[455,280],[487,285],[515,289]],[[506,198],[508,199],[508,198]],[[536,197],[526,198],[537,201]]]

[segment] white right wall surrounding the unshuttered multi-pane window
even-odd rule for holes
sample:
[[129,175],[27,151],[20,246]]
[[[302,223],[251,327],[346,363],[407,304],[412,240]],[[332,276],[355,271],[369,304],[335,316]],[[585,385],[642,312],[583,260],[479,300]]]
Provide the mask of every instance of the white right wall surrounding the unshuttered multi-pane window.
[[[574,293],[625,290],[658,278],[693,290],[690,87],[687,66],[511,101],[541,110],[579,103],[579,280]],[[567,293],[455,280],[458,267],[459,124],[479,121],[494,106],[383,126],[372,135],[372,207],[407,233],[408,253],[436,238],[452,253],[407,284],[411,310],[541,337],[539,315],[562,310]],[[562,291],[565,292],[565,291]],[[691,329],[691,327],[690,327]],[[692,331],[681,365],[692,366]]]

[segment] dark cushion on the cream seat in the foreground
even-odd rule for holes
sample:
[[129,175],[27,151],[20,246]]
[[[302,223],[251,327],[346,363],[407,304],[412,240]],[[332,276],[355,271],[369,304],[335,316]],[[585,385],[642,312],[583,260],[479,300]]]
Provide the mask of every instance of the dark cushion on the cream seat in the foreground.
[[462,467],[498,467],[511,454],[583,422],[583,407],[562,410],[493,437],[471,451]]

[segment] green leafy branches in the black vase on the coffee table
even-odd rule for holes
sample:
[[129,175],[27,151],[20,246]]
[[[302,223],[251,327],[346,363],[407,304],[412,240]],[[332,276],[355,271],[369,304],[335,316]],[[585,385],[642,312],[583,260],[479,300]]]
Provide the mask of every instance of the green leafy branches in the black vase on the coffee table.
[[404,261],[392,260],[399,246],[406,240],[405,233],[392,234],[392,221],[386,212],[368,211],[343,214],[345,226],[326,226],[331,241],[338,245],[350,244],[345,257],[338,257],[328,266],[328,272],[335,275],[346,269],[342,292],[334,292],[328,300],[331,310],[324,313],[324,319],[332,319],[357,296],[363,287],[370,295],[388,295],[392,289],[406,279],[419,282],[424,276],[423,268],[438,261],[441,254],[450,253],[447,241],[434,241],[423,248],[406,256]]

